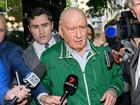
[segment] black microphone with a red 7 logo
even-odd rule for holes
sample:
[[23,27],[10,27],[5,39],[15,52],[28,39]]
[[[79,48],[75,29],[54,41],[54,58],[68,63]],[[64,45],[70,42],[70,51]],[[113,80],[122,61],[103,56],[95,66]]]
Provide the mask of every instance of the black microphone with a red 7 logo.
[[62,105],[64,100],[68,98],[69,95],[73,95],[78,87],[78,76],[71,74],[69,75],[64,82],[64,93],[60,99],[60,104]]

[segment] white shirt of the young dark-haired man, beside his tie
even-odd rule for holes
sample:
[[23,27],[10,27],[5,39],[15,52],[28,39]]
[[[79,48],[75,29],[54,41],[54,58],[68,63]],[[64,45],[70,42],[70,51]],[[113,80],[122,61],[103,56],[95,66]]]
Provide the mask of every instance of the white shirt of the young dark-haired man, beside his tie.
[[[48,47],[51,47],[55,43],[56,43],[56,41],[55,41],[54,37],[52,36],[51,40],[48,42],[48,44],[49,44]],[[46,50],[45,44],[40,44],[40,43],[34,41],[33,42],[33,47],[35,49],[35,52],[36,52],[38,58],[40,59],[41,54]]]

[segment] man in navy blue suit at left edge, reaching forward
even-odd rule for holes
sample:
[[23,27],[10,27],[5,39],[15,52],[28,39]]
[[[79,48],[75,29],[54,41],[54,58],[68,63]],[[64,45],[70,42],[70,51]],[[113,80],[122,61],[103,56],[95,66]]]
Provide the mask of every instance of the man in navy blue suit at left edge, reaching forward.
[[[1,81],[7,78],[6,82],[2,83],[2,84],[6,83],[3,89],[7,89],[7,91],[5,91],[4,94],[6,94],[6,92],[8,92],[8,90],[10,90],[11,88],[11,81],[13,79],[13,74],[15,70],[17,70],[21,74],[21,78],[24,78],[27,74],[31,72],[31,70],[26,65],[23,59],[22,49],[19,46],[4,40],[4,37],[6,34],[5,32],[6,32],[6,21],[4,17],[0,15],[0,57],[7,70],[6,71],[7,75],[1,78],[2,79]],[[0,90],[0,91],[4,92],[3,90]],[[31,90],[31,94],[37,101],[41,101],[41,99],[42,98],[44,99],[44,96],[45,96],[45,101],[43,102],[44,104],[45,103],[48,103],[48,104],[60,103],[59,102],[60,97],[48,96],[46,90],[40,83],[37,85],[37,87]],[[16,96],[16,94],[14,94],[14,96]]]

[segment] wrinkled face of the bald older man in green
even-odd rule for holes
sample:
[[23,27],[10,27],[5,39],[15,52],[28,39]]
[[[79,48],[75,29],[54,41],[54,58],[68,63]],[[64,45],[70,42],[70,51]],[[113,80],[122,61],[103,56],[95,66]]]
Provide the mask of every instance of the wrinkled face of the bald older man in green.
[[[66,16],[68,17],[68,16]],[[74,50],[81,51],[86,47],[88,27],[85,17],[74,14],[64,19],[60,25],[60,35]]]

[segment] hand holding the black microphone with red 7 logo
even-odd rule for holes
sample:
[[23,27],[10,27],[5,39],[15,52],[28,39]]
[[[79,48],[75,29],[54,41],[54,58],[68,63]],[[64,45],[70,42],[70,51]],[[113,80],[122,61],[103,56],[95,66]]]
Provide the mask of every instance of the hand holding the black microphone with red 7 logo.
[[[59,105],[60,104],[60,96],[41,96],[40,101],[43,105]],[[66,104],[66,100],[64,101],[63,105]]]

